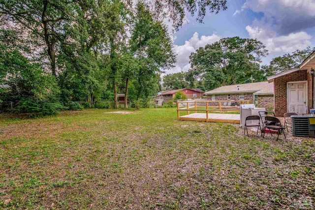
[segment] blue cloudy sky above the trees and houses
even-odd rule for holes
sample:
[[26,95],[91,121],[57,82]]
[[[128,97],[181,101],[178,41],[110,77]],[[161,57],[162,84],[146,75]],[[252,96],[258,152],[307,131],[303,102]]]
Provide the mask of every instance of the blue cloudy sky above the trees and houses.
[[223,37],[257,38],[269,51],[262,64],[315,46],[315,0],[227,0],[227,7],[208,13],[203,23],[187,15],[187,23],[172,34],[177,62],[167,74],[188,71],[191,53]]

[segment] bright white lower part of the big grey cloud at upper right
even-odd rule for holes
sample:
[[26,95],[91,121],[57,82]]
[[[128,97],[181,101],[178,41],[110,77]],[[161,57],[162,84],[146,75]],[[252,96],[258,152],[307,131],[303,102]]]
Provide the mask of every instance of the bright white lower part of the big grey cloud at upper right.
[[291,53],[311,45],[312,36],[304,31],[277,36],[274,32],[259,27],[247,26],[246,30],[251,38],[257,38],[265,44],[269,53]]

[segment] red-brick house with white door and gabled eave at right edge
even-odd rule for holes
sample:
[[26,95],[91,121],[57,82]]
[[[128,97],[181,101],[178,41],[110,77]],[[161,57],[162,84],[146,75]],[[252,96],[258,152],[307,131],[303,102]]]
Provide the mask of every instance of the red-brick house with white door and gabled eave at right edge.
[[267,78],[274,83],[276,116],[283,117],[286,112],[310,113],[314,107],[313,69],[315,51],[299,66]]

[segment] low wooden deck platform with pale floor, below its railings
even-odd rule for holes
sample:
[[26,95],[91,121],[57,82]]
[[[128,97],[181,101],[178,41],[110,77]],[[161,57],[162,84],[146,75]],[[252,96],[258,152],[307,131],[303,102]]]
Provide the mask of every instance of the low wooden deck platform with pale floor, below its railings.
[[[190,115],[180,116],[179,120],[190,121],[207,121],[206,113],[193,113]],[[208,113],[208,122],[228,122],[228,123],[240,123],[239,114],[213,114]]]

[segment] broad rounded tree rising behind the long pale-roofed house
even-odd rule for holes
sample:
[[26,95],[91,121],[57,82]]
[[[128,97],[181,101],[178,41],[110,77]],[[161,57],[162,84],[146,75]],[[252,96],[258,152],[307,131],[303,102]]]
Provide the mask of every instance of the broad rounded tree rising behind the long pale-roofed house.
[[230,37],[199,48],[189,57],[192,73],[211,90],[221,85],[244,83],[254,77],[265,79],[260,70],[261,58],[267,55],[265,46],[256,39]]

